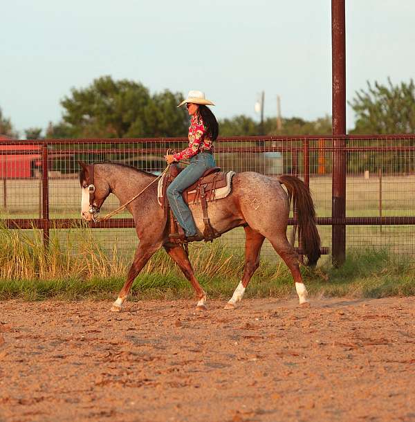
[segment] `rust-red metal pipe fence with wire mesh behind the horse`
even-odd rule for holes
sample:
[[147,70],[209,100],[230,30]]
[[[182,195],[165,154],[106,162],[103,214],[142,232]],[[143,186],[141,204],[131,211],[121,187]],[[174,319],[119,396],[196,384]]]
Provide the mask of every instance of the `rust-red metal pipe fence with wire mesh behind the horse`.
[[[80,219],[78,160],[110,160],[159,174],[165,168],[163,156],[167,149],[181,150],[186,145],[187,138],[1,142],[3,226],[42,230],[46,244],[51,236],[60,236],[64,241],[66,230],[88,226]],[[341,218],[332,214],[336,154],[346,160],[345,186],[340,187],[346,192],[346,216]],[[346,231],[346,248],[382,248],[399,256],[415,257],[414,135],[219,138],[215,158],[219,167],[236,172],[260,172],[270,177],[293,174],[302,178],[315,202],[323,253],[330,254],[334,249],[335,226]],[[111,195],[102,213],[111,212],[118,205]],[[295,223],[295,214],[291,214],[289,223]],[[95,239],[109,250],[117,243],[118,250],[132,253],[138,243],[133,220],[126,211],[89,227],[95,229]],[[243,230],[232,230],[221,241],[234,250],[243,250]],[[261,256],[275,257],[269,244]]]

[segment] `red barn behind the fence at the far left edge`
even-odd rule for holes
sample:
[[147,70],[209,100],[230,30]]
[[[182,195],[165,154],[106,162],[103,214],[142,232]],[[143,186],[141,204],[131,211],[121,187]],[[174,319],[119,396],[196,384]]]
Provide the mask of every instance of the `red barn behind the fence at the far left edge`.
[[[0,178],[30,178],[42,167],[41,145],[23,145],[0,135]],[[8,145],[4,145],[9,143]],[[7,154],[10,151],[12,154]],[[21,151],[21,154],[18,152]]]

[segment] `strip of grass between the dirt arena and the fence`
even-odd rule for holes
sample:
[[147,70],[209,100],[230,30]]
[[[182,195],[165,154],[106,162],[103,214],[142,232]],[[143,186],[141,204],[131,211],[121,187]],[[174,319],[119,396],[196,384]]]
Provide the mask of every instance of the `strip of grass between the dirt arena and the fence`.
[[[23,300],[113,299],[131,264],[131,255],[117,243],[108,251],[93,238],[93,230],[58,230],[47,251],[40,230],[0,228],[0,298]],[[64,237],[62,237],[64,233]],[[190,246],[196,277],[209,297],[228,298],[243,272],[243,254],[219,240]],[[386,250],[349,250],[347,261],[335,269],[329,257],[315,269],[302,267],[311,297],[385,297],[415,295],[413,261]],[[246,291],[247,297],[291,297],[291,273],[278,260],[264,260]],[[133,284],[131,299],[191,298],[194,292],[181,271],[160,250]]]

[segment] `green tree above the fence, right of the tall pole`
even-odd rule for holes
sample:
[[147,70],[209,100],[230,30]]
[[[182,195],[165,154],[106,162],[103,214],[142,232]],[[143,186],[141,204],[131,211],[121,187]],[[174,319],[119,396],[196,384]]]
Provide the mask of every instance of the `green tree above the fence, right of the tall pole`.
[[389,86],[367,81],[368,91],[356,91],[349,102],[356,113],[356,127],[351,134],[409,134],[415,132],[415,86],[401,82]]

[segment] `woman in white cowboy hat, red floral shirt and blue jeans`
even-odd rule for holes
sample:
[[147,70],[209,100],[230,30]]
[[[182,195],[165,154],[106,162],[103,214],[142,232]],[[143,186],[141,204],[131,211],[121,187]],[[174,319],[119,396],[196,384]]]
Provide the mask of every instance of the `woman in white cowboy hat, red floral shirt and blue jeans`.
[[177,107],[186,104],[187,112],[192,119],[189,127],[189,146],[183,151],[166,156],[167,163],[190,158],[190,165],[174,178],[167,188],[167,199],[174,217],[185,231],[187,241],[202,240],[203,236],[197,231],[192,212],[183,201],[183,191],[201,178],[202,174],[216,163],[213,156],[213,141],[219,133],[219,125],[212,111],[206,107],[213,102],[205,99],[201,91],[190,91],[187,98]]

